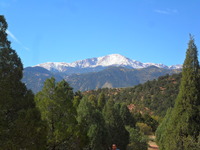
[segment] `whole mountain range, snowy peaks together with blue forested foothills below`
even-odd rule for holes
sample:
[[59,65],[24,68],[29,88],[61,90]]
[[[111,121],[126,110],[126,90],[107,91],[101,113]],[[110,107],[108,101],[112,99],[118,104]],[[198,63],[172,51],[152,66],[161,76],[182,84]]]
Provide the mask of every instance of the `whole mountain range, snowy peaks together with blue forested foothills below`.
[[98,88],[130,87],[165,74],[181,71],[182,65],[166,66],[142,63],[119,54],[75,61],[47,62],[24,69],[22,81],[34,93],[39,92],[47,78],[66,80],[75,91]]

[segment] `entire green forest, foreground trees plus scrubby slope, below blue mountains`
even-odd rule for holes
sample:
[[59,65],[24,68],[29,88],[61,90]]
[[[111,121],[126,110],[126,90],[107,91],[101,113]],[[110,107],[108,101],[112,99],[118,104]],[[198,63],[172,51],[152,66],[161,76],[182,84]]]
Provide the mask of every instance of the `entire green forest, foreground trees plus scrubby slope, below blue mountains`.
[[147,150],[156,133],[160,150],[200,148],[200,76],[190,36],[181,74],[132,88],[74,92],[65,80],[47,79],[33,94],[23,65],[7,40],[0,16],[0,149]]

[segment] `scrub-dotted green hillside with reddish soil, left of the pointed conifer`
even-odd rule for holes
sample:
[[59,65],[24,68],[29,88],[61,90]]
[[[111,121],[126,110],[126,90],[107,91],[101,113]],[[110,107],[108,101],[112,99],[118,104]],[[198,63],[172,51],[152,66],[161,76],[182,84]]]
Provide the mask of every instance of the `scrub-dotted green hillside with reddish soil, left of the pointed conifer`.
[[[103,92],[107,98],[113,97],[115,101],[134,104],[137,109],[144,110],[163,117],[174,101],[179,91],[181,74],[161,76],[158,79],[147,81],[132,88],[98,89],[84,92],[86,95],[98,95]],[[136,109],[135,108],[135,109]]]

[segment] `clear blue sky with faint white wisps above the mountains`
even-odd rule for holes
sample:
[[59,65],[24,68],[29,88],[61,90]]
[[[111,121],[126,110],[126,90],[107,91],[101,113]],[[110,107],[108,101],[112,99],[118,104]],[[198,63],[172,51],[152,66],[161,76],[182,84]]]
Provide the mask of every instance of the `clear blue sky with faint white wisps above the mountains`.
[[189,34],[200,47],[200,0],[0,0],[24,67],[121,54],[182,64]]

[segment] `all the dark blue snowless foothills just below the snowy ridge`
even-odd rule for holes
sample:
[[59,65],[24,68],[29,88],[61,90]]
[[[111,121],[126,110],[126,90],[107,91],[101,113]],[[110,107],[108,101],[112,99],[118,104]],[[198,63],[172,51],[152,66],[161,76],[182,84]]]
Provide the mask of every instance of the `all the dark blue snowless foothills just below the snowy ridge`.
[[109,67],[99,72],[66,76],[63,73],[51,72],[42,67],[28,67],[24,69],[22,81],[34,93],[39,92],[44,81],[50,77],[55,77],[57,81],[65,79],[74,88],[74,91],[87,91],[98,88],[132,87],[166,74],[178,72],[180,70],[163,69],[155,66],[143,69]]

